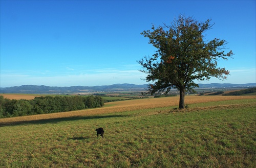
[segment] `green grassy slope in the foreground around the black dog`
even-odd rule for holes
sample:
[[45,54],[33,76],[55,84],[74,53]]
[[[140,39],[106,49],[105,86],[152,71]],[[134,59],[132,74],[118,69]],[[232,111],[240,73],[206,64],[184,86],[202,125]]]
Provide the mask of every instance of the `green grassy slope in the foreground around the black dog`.
[[255,167],[255,107],[247,99],[7,125],[0,166]]

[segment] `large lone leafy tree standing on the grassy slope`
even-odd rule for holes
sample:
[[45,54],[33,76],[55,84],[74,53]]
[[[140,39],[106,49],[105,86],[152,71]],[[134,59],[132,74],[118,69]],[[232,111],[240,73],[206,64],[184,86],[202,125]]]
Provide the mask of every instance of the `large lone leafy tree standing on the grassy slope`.
[[229,71],[217,67],[217,62],[227,60],[233,53],[225,53],[225,40],[205,38],[205,32],[213,25],[211,19],[201,22],[180,15],[169,26],[163,24],[156,28],[153,25],[152,30],[141,33],[157,48],[153,56],[137,61],[143,66],[140,71],[147,75],[144,80],[151,83],[148,92],[168,93],[171,88],[176,88],[180,91],[179,108],[182,109],[185,108],[186,90],[193,92],[193,88],[199,87],[195,80],[227,78]]

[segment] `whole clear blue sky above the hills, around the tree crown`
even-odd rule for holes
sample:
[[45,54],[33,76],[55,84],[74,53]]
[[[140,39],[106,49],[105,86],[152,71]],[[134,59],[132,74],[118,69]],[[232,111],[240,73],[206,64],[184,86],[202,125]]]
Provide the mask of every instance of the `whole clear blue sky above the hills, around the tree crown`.
[[136,61],[156,49],[140,33],[180,14],[211,18],[206,38],[235,54],[227,80],[200,83],[256,82],[255,1],[1,1],[1,87],[145,84]]

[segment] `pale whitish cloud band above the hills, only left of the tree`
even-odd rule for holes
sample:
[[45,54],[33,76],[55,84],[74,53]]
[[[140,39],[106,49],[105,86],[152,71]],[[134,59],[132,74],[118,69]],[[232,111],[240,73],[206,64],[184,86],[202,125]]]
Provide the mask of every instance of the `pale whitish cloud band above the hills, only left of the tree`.
[[[94,73],[93,73],[94,72]],[[145,84],[144,74],[138,70],[120,70],[105,68],[82,71],[79,73],[50,73],[49,75],[33,75],[26,73],[1,74],[1,87],[20,85],[47,85],[47,86],[95,86],[112,85],[115,83]]]

